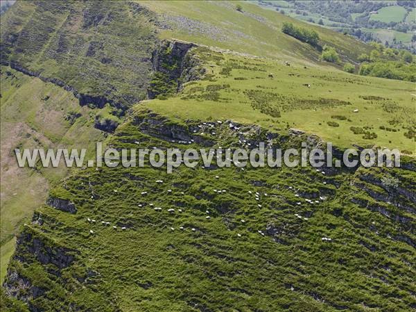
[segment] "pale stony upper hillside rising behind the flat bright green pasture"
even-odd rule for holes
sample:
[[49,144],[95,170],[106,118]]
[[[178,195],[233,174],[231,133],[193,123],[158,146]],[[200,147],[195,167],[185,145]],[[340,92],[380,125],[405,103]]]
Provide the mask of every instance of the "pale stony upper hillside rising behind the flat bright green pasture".
[[[304,25],[296,19],[264,10],[252,3],[241,2],[243,12],[236,10],[236,2],[211,1],[139,1],[162,15],[166,29],[162,38],[177,38],[231,49],[243,54],[268,58],[297,58],[318,62],[320,52],[281,33],[284,22]],[[319,26],[308,26],[318,31],[322,45],[331,44],[345,58],[356,60],[368,47],[342,34]]]

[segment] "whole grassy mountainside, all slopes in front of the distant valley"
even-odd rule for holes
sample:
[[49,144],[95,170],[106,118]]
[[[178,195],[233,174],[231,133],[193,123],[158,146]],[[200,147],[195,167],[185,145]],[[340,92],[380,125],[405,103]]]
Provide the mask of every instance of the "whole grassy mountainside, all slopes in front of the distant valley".
[[[283,22],[308,24],[239,3],[242,12],[235,1],[19,1],[2,16],[2,59],[43,80],[1,69],[1,278],[12,255],[1,311],[415,309],[414,84],[323,63],[281,32]],[[343,61],[370,53],[310,28]],[[173,38],[202,46],[187,62],[166,42],[155,50]],[[186,75],[170,74],[184,63],[198,67],[186,74],[205,74],[173,94]],[[150,81],[168,92],[137,103]],[[104,135],[97,116],[122,124]],[[166,174],[148,165],[18,169],[10,152],[88,147],[92,156],[101,140],[117,149],[330,141],[410,156],[390,169]],[[48,196],[76,213],[44,204]]]

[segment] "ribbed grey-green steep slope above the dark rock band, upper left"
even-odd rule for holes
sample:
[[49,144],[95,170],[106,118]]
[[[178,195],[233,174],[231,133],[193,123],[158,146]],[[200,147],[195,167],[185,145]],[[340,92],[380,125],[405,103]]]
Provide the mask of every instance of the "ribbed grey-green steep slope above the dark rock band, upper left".
[[153,13],[120,1],[17,1],[1,18],[1,61],[68,85],[81,104],[146,97]]

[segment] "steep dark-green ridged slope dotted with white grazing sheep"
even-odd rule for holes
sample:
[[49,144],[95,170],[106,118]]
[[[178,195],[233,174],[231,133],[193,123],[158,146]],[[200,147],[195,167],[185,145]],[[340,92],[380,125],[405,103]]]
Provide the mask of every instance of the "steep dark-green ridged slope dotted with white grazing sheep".
[[[177,147],[188,136],[239,145],[227,122],[210,124],[141,110],[108,143]],[[211,131],[218,136],[202,135]],[[268,132],[239,131],[252,145]],[[414,161],[403,161],[408,170],[326,174],[86,169],[51,192],[64,193],[76,214],[44,206],[22,229],[5,293],[31,311],[412,311],[416,176]],[[383,185],[383,176],[399,186]]]

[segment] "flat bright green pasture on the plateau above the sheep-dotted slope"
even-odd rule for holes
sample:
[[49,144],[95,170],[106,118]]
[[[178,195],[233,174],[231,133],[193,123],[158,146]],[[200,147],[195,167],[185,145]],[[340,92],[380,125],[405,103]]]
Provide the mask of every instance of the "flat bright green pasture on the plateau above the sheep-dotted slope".
[[[207,52],[202,55],[205,53]],[[415,142],[404,136],[403,128],[415,126],[415,97],[411,95],[414,90],[412,83],[356,76],[334,71],[330,67],[305,69],[299,64],[288,67],[272,60],[243,58],[229,54],[222,54],[222,57],[220,63],[209,62],[207,70],[208,74],[214,73],[212,81],[189,83],[184,88],[183,94],[165,101],[146,101],[146,107],[162,115],[178,116],[182,120],[232,118],[236,122],[261,124],[266,128],[280,131],[286,131],[289,126],[307,133],[315,133],[340,147],[350,147],[353,144],[380,145],[415,152]],[[220,74],[229,62],[234,62],[235,67],[246,66],[248,69],[232,69],[229,76]],[[268,77],[269,73],[273,75],[272,79]],[[236,80],[236,78],[245,80]],[[205,88],[208,85],[223,84],[229,85],[229,88],[219,91],[218,101],[204,99],[207,94]],[[311,88],[307,88],[304,84],[310,84]],[[268,113],[261,113],[259,109],[252,108],[252,101],[244,94],[247,90],[277,93],[287,98],[294,98],[295,102],[282,108],[277,99],[271,99],[267,106],[275,107],[281,113],[281,117],[274,118]],[[193,95],[196,95],[196,99],[191,98]],[[369,95],[383,97],[385,100],[372,101],[362,98]],[[324,104],[311,104],[309,107],[297,105],[297,101],[302,99],[320,98],[350,102],[351,105],[333,107]],[[393,113],[383,109],[383,105],[388,103],[397,104],[397,109]],[[358,109],[358,113],[353,112],[355,109]],[[347,120],[333,119],[331,118],[333,115],[342,115]],[[389,121],[392,120],[399,121],[392,126],[398,132],[379,129],[380,126],[390,127]],[[329,126],[327,122],[330,121],[338,122],[339,126],[335,128]],[[362,135],[356,135],[349,130],[351,126],[368,126],[378,137],[375,140],[365,140]]]

